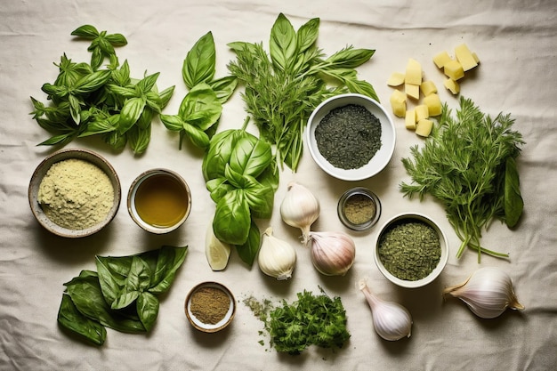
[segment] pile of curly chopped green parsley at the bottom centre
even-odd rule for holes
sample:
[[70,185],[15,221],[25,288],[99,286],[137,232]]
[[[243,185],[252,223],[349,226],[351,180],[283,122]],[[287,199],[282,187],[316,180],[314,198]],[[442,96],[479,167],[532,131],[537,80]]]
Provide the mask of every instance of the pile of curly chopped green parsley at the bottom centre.
[[244,303],[262,320],[270,344],[280,352],[299,355],[311,345],[340,349],[351,336],[341,298],[331,298],[323,289],[317,295],[303,290],[295,302],[283,299],[277,307],[270,300],[258,302],[253,297]]

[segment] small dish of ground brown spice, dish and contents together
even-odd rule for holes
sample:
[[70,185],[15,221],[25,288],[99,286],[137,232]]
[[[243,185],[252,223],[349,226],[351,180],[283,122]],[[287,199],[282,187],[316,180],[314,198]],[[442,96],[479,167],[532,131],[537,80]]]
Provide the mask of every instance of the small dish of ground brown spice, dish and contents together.
[[[222,306],[215,306],[215,302]],[[226,286],[217,282],[202,282],[186,296],[185,312],[191,326],[204,333],[216,333],[229,326],[234,319],[236,300]]]

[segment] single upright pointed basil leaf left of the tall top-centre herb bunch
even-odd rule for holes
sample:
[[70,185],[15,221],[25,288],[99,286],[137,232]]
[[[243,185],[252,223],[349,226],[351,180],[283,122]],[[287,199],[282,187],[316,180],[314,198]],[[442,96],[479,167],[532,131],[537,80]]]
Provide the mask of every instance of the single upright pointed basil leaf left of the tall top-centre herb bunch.
[[213,79],[215,64],[213,34],[207,32],[193,45],[183,61],[182,78],[188,89]]

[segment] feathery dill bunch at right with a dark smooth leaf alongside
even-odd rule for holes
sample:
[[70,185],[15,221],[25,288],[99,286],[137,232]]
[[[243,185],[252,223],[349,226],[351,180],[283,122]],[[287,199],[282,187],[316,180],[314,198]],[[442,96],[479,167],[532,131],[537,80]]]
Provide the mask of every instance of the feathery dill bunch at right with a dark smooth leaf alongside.
[[444,104],[423,147],[412,147],[412,158],[402,159],[412,182],[401,182],[400,190],[408,198],[429,194],[442,203],[462,241],[456,257],[466,246],[478,252],[478,262],[482,253],[508,257],[481,246],[480,238],[494,219],[509,228],[519,222],[523,200],[515,159],[524,141],[510,115],[492,118],[470,99],[461,97],[459,103],[454,117]]

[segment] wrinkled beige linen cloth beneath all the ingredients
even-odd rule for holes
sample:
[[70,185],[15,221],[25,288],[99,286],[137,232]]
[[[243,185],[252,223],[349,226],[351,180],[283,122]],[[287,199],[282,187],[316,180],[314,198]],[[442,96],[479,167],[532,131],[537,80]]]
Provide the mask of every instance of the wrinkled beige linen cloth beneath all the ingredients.
[[[357,260],[343,278],[325,278],[311,266],[307,251],[298,249],[294,278],[278,283],[249,270],[233,254],[227,270],[213,272],[204,253],[204,231],[214,204],[201,174],[201,154],[179,151],[178,139],[156,122],[149,149],[142,157],[129,150],[113,153],[97,141],[74,141],[68,147],[97,150],[117,170],[124,193],[135,176],[152,167],[181,173],[193,191],[189,220],[171,234],[152,236],[137,227],[120,206],[108,229],[80,240],[57,238],[43,230],[28,207],[28,181],[36,165],[52,148],[36,147],[47,138],[28,115],[29,96],[44,98],[41,85],[56,76],[53,62],[62,52],[73,60],[89,60],[86,44],[69,35],[89,23],[109,33],[124,34],[129,44],[118,49],[128,59],[132,75],[159,71],[158,85],[176,85],[165,113],[174,114],[186,93],[182,60],[206,32],[213,31],[218,74],[226,73],[233,58],[232,41],[268,42],[270,27],[284,12],[295,28],[313,17],[321,20],[319,46],[327,55],[347,44],[375,49],[375,56],[359,69],[359,76],[375,86],[389,106],[392,89],[385,82],[392,71],[402,71],[408,58],[422,62],[425,76],[442,86],[442,75],[432,64],[436,52],[449,52],[462,42],[480,56],[480,68],[462,85],[485,112],[503,111],[516,119],[527,145],[519,161],[525,213],[518,230],[496,222],[483,242],[508,251],[511,259],[485,256],[481,266],[496,266],[513,278],[526,311],[507,311],[498,319],[481,320],[464,303],[443,301],[441,290],[464,280],[478,268],[467,252],[456,260],[459,241],[439,204],[402,198],[400,181],[407,179],[400,164],[409,147],[420,139],[396,119],[398,141],[388,167],[366,181],[337,181],[319,170],[306,151],[298,173],[281,173],[275,205],[284,197],[288,181],[300,181],[321,201],[314,230],[343,230],[357,244]],[[191,0],[152,1],[25,1],[5,0],[0,9],[0,369],[20,370],[549,370],[557,364],[557,3],[553,0],[445,1],[297,1]],[[443,101],[454,97],[440,89]],[[221,129],[238,128],[245,118],[236,93],[224,106]],[[372,243],[377,228],[356,234],[336,217],[336,201],[344,190],[362,185],[383,202],[380,224],[394,214],[419,211],[440,223],[448,235],[450,257],[446,270],[431,286],[397,288],[376,269]],[[125,200],[124,200],[125,201]],[[295,244],[297,230],[281,222],[278,207],[270,221],[275,235]],[[62,284],[80,270],[94,269],[94,255],[124,255],[163,244],[189,245],[190,252],[171,291],[162,299],[157,325],[149,335],[125,335],[108,330],[101,348],[77,343],[61,332],[56,314]],[[356,289],[367,277],[375,294],[403,303],[414,318],[410,339],[388,343],[371,322],[363,295]],[[217,335],[198,333],[187,322],[183,301],[191,287],[216,280],[229,286],[238,300],[236,319]],[[341,351],[311,349],[299,357],[272,350],[259,334],[262,323],[241,302],[249,295],[278,302],[297,292],[322,286],[340,295],[349,317],[351,340]],[[260,340],[265,342],[262,346]]]

